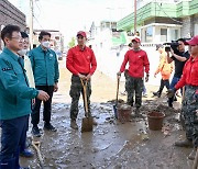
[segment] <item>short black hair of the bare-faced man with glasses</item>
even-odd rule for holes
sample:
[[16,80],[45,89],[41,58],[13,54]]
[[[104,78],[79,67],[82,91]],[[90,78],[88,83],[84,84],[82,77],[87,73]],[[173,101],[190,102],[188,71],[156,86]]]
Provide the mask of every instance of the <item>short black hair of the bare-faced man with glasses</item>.
[[[18,25],[8,24],[1,31],[1,38],[4,43],[4,37],[12,38],[13,32],[20,32],[20,27]],[[6,44],[6,43],[4,43]]]

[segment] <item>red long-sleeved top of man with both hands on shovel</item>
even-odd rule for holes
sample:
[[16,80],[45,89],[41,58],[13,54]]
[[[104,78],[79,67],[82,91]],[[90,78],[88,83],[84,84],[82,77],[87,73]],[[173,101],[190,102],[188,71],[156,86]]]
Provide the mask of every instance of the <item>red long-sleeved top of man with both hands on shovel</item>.
[[70,48],[67,54],[66,67],[74,75],[79,72],[92,75],[97,68],[92,49],[86,46],[84,50],[79,46]]

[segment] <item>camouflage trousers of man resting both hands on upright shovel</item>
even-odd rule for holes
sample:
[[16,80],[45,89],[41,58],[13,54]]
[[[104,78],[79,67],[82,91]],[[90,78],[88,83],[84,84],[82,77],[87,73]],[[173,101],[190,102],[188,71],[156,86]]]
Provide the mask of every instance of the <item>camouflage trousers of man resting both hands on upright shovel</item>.
[[[91,95],[91,83],[90,80],[87,83],[87,104],[88,104],[88,115],[91,116],[90,112],[90,95]],[[70,104],[70,119],[76,120],[78,116],[78,102],[80,93],[82,93],[84,99],[84,88],[81,84],[81,81],[78,76],[72,76],[72,84],[70,84],[70,98],[72,98],[72,104]],[[84,105],[85,108],[85,105]]]

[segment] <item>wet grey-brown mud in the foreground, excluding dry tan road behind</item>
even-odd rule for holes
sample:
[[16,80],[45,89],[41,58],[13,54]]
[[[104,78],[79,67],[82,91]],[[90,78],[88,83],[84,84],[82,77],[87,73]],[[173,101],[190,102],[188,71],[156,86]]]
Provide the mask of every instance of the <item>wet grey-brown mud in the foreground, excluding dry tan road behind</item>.
[[[98,126],[92,133],[81,134],[80,131],[69,127],[69,104],[55,108],[52,122],[58,131],[44,132],[41,147],[48,168],[158,169],[190,166],[190,161],[186,160],[190,149],[173,146],[178,136],[184,134],[178,131],[178,123],[173,122],[175,128],[168,137],[164,137],[161,131],[153,132],[147,128],[146,119],[135,119],[122,124],[114,120],[112,104],[94,103],[91,109]],[[79,127],[82,116],[84,109],[80,104],[77,120]],[[41,127],[43,123],[40,124]],[[21,158],[21,161],[24,166],[38,168],[36,157],[28,160]]]

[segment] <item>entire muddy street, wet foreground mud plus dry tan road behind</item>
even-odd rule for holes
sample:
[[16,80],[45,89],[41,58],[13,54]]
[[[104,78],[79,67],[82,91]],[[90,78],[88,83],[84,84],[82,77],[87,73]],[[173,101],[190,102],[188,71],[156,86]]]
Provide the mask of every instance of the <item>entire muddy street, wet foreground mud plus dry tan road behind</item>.
[[[97,71],[92,77],[91,111],[98,126],[91,133],[81,133],[84,117],[82,101],[80,99],[77,124],[79,131],[70,128],[69,120],[69,86],[70,74],[61,63],[59,90],[53,98],[52,123],[57,127],[56,133],[43,131],[41,138],[41,154],[44,168],[52,169],[187,169],[193,161],[187,159],[190,148],[178,148],[173,144],[185,136],[179,124],[180,98],[175,103],[176,110],[169,109],[164,95],[152,98],[157,87],[146,86],[148,97],[143,99],[141,112],[143,117],[131,117],[131,122],[121,123],[114,120],[113,103],[108,102],[116,98],[116,81]],[[120,91],[124,91],[121,82]],[[125,95],[119,94],[125,101]],[[158,110],[165,113],[162,131],[150,131],[146,114]],[[42,114],[42,113],[41,113]],[[31,127],[28,136],[31,137]],[[43,128],[43,122],[40,124]],[[35,139],[35,138],[34,138]],[[33,147],[31,147],[34,150]],[[34,150],[35,153],[35,150]],[[38,169],[36,154],[33,158],[21,158],[23,166]]]

